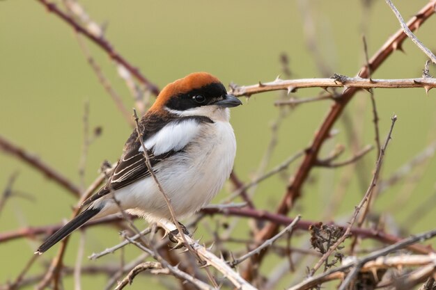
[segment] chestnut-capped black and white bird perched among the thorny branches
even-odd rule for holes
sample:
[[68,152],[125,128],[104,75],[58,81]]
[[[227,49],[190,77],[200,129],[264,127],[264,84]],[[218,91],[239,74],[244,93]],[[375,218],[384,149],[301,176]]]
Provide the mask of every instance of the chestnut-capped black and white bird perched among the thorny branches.
[[[149,223],[171,221],[157,182],[178,220],[204,207],[233,169],[236,140],[229,108],[241,104],[207,72],[169,83],[137,122],[106,184],[81,204],[86,209],[49,236],[35,253],[46,252],[88,220],[121,209]],[[157,182],[148,170],[146,155]]]

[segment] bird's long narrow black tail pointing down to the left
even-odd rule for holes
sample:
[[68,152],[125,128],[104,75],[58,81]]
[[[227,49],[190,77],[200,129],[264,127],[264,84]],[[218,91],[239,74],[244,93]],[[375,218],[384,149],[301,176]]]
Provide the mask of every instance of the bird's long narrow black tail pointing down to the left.
[[101,209],[85,209],[85,211],[81,212],[79,216],[76,216],[72,220],[70,220],[66,225],[61,227],[57,232],[49,236],[49,238],[40,245],[38,250],[36,250],[35,254],[41,255],[43,252],[48,250],[49,248],[52,248],[54,244],[61,241],[61,239],[65,238],[65,236],[68,236],[71,234],[75,229],[78,229],[86,223],[89,219],[91,219],[93,216],[98,214]]

